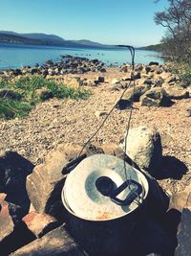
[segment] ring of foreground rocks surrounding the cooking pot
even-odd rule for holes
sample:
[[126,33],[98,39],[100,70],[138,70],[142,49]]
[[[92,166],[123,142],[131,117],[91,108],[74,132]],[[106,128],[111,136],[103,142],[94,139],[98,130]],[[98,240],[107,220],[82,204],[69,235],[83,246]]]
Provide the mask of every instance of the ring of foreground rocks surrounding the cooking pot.
[[[139,138],[137,142],[135,138]],[[76,244],[70,236],[67,211],[61,201],[61,190],[67,177],[67,173],[62,174],[63,167],[75,159],[81,149],[80,145],[61,144],[56,150],[48,153],[42,164],[35,167],[16,152],[1,153],[2,255],[88,255],[81,244]],[[180,237],[185,238],[187,235],[182,232],[185,231],[186,213],[188,211],[190,214],[191,210],[191,187],[171,197],[169,203],[169,198],[153,177],[159,173],[161,150],[159,132],[146,127],[130,130],[126,149],[128,155],[124,155],[116,144],[91,144],[84,150],[87,155],[106,153],[125,157],[127,161],[133,161],[138,168],[141,167],[140,172],[148,179],[148,211],[143,227],[138,230],[139,245],[130,255],[174,255],[177,246],[176,228],[179,222]],[[176,220],[173,219],[175,211],[178,215]],[[180,221],[181,212],[183,218]],[[177,249],[181,251],[182,241],[179,240],[179,243]],[[137,249],[141,250],[140,254]]]

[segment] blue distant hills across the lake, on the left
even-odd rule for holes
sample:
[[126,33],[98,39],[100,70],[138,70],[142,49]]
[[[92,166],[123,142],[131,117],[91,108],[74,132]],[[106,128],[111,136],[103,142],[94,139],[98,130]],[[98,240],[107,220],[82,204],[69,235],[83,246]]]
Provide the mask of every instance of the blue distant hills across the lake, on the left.
[[105,45],[90,40],[65,40],[58,35],[41,33],[18,34],[9,31],[0,31],[0,43],[18,43],[33,45],[52,45],[76,48],[114,48],[113,45]]

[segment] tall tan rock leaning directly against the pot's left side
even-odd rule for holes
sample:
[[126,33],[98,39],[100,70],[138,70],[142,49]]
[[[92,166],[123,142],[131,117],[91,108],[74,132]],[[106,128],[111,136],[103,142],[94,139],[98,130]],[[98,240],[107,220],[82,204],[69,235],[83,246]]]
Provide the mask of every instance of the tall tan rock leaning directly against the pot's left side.
[[81,147],[78,145],[60,145],[45,157],[44,163],[33,169],[32,175],[28,175],[27,191],[36,212],[50,214],[60,221],[65,220],[61,190],[66,175],[62,175],[62,169],[77,157],[79,151]]

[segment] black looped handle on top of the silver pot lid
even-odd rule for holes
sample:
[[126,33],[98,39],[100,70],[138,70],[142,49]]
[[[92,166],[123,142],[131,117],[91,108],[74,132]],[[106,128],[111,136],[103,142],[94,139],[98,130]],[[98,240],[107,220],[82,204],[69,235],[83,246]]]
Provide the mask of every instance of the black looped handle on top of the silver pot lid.
[[[131,185],[130,193],[127,195],[125,199],[119,199],[117,196],[125,190],[128,186]],[[133,188],[132,188],[133,185]],[[135,198],[138,198],[138,196],[142,193],[142,186],[135,180],[126,180],[124,183],[122,183],[117,189],[115,189],[110,196],[111,200],[116,202],[118,205],[124,206],[131,204]]]

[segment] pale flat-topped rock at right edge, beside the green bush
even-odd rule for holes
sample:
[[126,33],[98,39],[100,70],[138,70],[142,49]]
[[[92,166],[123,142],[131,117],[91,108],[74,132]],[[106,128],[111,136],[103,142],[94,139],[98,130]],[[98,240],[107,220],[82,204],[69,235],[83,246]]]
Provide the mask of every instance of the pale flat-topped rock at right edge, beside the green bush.
[[168,97],[172,100],[181,100],[189,98],[189,91],[183,89],[179,85],[172,86],[168,85],[167,83],[164,83],[162,87],[165,89]]

